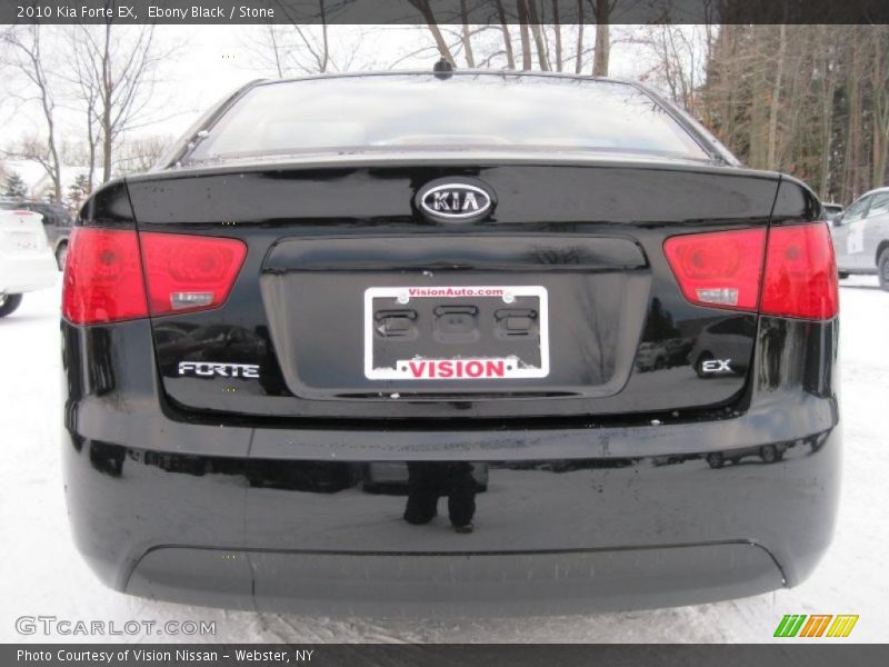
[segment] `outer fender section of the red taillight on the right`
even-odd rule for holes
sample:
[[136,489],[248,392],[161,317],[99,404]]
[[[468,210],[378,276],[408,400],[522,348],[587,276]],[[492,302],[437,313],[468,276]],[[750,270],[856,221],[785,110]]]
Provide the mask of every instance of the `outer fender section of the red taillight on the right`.
[[760,310],[806,319],[837,315],[837,262],[827,225],[775,227],[769,231]]

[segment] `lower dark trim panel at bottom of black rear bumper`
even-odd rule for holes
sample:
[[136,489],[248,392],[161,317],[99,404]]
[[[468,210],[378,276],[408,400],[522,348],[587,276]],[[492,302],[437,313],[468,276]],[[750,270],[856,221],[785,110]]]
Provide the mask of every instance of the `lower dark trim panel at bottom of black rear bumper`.
[[669,607],[782,585],[768,551],[743,542],[466,555],[170,547],[147,554],[126,590],[270,611],[416,617]]

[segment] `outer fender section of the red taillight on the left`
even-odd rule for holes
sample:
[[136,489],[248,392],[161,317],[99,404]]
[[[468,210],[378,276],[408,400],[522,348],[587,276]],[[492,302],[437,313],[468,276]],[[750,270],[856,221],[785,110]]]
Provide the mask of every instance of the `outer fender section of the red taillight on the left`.
[[134,231],[76,227],[62,281],[62,313],[74,325],[148,316]]

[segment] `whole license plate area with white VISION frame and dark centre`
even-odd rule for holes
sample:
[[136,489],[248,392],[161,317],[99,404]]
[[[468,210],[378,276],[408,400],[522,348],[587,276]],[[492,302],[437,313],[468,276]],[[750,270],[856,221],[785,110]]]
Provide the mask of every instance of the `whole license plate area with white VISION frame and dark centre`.
[[[381,319],[387,313],[401,320],[401,330],[391,336]],[[456,320],[457,332],[447,331],[447,321],[442,330],[442,319]],[[370,380],[549,376],[549,305],[542,286],[370,287],[363,326],[364,377]]]

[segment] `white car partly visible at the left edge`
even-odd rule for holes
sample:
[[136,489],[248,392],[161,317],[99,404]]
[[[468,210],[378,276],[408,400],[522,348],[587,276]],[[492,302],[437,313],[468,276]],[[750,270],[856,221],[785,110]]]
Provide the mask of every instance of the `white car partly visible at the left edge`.
[[51,287],[59,275],[42,216],[0,210],[0,317],[13,312],[23,292]]

